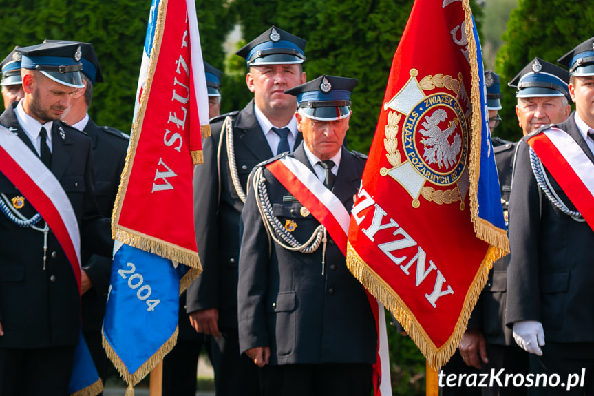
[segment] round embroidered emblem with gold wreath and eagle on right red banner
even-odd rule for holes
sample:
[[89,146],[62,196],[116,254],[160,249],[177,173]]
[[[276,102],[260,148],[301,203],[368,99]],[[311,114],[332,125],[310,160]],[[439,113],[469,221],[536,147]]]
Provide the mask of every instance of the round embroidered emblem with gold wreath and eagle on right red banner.
[[428,75],[419,81],[417,74],[411,69],[404,87],[384,103],[384,110],[394,110],[388,112],[384,140],[392,168],[383,167],[380,174],[400,183],[414,208],[423,196],[437,205],[460,202],[464,210],[471,103],[462,75]]

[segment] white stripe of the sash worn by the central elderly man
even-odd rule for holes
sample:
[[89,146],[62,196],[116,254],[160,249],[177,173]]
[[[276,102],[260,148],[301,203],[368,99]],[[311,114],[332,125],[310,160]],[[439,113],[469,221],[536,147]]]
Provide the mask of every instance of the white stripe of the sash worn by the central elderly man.
[[323,183],[315,176],[315,174],[306,167],[301,161],[293,157],[283,157],[280,161],[289,169],[311,192],[320,200],[320,202],[328,208],[332,216],[334,216],[343,229],[344,233],[348,235],[348,223],[350,215],[342,202],[337,196],[332,194],[332,191],[326,188]]

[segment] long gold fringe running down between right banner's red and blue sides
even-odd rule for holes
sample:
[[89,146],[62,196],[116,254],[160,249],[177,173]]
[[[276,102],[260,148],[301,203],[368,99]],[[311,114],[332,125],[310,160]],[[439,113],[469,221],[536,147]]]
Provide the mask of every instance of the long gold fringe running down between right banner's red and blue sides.
[[[462,8],[464,10],[464,21],[466,37],[468,38],[468,52],[470,54],[470,72],[474,78],[471,83],[470,101],[472,103],[472,118],[471,118],[471,139],[470,139],[470,158],[469,158],[469,171],[470,171],[470,213],[472,223],[474,225],[474,231],[476,236],[480,240],[484,240],[488,244],[494,245],[500,249],[500,258],[509,253],[509,240],[507,235],[502,236],[502,232],[491,225],[489,222],[482,220],[478,217],[478,198],[476,198],[478,191],[478,178],[480,176],[480,148],[482,144],[482,108],[480,107],[480,95],[478,86],[478,61],[477,61],[477,45],[474,41],[473,23],[472,23],[472,10],[470,8],[470,0],[462,1]],[[482,221],[481,221],[482,220]],[[497,259],[496,258],[496,259]],[[496,260],[495,259],[495,260]]]

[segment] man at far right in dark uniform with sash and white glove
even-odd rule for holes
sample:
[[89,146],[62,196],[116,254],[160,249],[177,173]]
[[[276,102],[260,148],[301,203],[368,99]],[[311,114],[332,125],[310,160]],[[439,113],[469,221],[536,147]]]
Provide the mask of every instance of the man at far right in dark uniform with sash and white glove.
[[[593,45],[594,37],[558,61],[569,68],[567,87],[576,110],[566,121],[520,141],[509,200],[506,322],[514,340],[529,352],[530,371],[558,375],[566,384],[534,388],[538,395],[594,394],[594,225],[573,203],[573,186],[586,183],[580,174],[594,171],[594,141],[588,136],[594,129]],[[549,83],[549,90],[566,87]],[[542,140],[545,133],[547,140]],[[542,145],[528,144],[537,141]],[[569,147],[572,155],[561,155]],[[545,164],[541,156],[549,158],[551,150],[553,160]],[[582,169],[575,176],[579,180],[566,184],[575,169]],[[594,205],[591,196],[578,195],[586,199],[582,209]],[[578,379],[573,388],[569,375]]]

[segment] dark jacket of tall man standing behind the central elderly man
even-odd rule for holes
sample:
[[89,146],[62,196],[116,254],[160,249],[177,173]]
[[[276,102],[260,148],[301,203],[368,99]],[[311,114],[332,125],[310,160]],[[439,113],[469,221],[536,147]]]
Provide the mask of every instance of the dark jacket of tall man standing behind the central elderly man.
[[[202,273],[187,289],[186,312],[217,308],[219,326],[237,329],[237,262],[244,204],[229,174],[225,141],[221,147],[220,175],[217,171],[217,149],[227,115],[233,116],[237,174],[246,193],[250,171],[273,156],[255,117],[253,100],[239,113],[211,120],[212,136],[203,140],[204,163],[195,167],[194,172],[195,231]],[[295,147],[300,142],[299,133]]]

